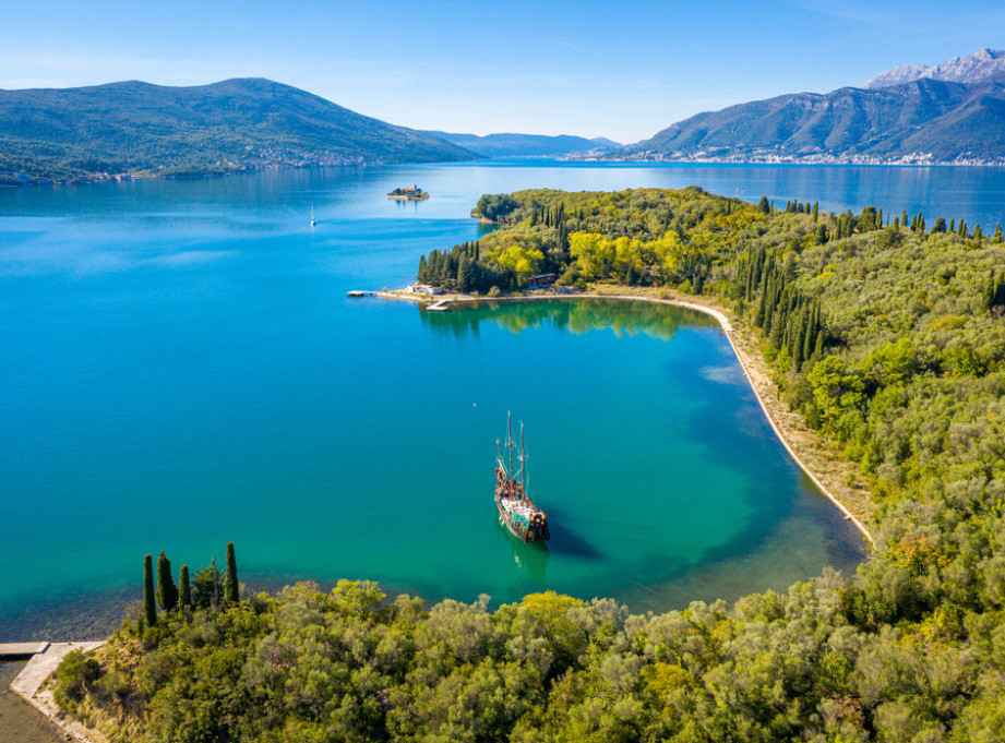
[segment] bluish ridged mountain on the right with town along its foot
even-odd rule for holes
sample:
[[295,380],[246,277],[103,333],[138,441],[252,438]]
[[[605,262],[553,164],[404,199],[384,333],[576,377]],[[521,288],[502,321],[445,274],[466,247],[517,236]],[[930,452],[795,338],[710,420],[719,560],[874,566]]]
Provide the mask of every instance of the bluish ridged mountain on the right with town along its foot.
[[930,76],[797,93],[698,113],[633,145],[629,159],[953,163],[1005,159],[1005,85]]

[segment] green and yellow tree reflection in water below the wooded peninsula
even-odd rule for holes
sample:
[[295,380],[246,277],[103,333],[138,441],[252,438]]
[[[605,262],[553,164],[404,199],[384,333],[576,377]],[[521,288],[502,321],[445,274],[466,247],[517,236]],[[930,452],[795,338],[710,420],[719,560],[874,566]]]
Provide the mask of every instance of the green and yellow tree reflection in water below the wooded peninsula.
[[645,334],[669,340],[681,327],[715,326],[701,312],[667,304],[620,299],[565,298],[533,301],[458,303],[446,312],[421,311],[422,322],[433,332],[454,336],[477,336],[482,322],[511,333],[540,327],[582,334],[610,328],[618,337]]

